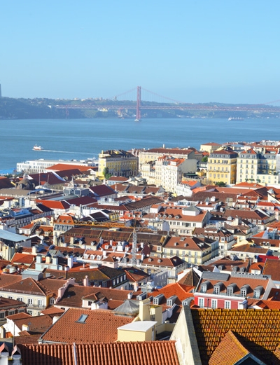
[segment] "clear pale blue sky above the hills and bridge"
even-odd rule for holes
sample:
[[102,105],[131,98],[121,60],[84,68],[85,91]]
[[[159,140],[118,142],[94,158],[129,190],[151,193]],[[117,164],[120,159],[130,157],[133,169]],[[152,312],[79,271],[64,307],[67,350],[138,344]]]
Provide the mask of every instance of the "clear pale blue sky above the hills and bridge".
[[280,99],[279,0],[13,0],[0,6],[7,97]]

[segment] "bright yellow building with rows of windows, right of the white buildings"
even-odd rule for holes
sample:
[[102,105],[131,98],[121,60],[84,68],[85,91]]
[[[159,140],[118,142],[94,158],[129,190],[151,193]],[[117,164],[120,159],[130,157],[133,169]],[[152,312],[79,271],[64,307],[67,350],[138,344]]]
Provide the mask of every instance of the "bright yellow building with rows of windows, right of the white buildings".
[[212,182],[235,184],[237,178],[238,153],[232,149],[221,149],[210,153],[207,179]]

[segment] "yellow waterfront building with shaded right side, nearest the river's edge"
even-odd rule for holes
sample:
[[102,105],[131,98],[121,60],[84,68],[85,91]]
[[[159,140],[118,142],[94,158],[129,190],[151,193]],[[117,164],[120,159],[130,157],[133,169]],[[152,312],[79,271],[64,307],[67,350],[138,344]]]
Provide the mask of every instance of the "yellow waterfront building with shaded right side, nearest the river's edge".
[[134,177],[138,174],[138,158],[120,150],[102,151],[98,159],[98,177],[104,179],[104,170],[113,176]]

